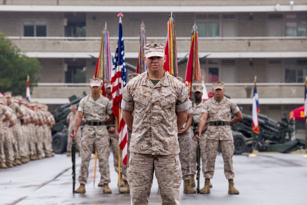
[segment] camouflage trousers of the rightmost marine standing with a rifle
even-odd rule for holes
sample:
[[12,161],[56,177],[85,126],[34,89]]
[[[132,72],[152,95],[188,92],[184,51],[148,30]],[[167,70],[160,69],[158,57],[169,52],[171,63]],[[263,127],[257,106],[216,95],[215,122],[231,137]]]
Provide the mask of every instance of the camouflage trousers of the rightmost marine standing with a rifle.
[[206,153],[206,165],[204,178],[211,179],[214,174],[215,168],[215,160],[217,149],[220,148],[224,160],[224,173],[227,179],[233,179],[235,177],[235,173],[233,172],[232,166],[232,156],[235,151],[235,145],[233,144],[233,140],[210,140],[206,139],[205,145],[205,153]]

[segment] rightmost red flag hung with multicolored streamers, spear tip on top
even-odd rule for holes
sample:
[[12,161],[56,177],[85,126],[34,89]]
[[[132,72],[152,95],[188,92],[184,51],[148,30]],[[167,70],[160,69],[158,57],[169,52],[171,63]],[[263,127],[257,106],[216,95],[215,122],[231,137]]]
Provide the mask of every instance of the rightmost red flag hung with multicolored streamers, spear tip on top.
[[192,81],[198,81],[200,79],[200,63],[198,57],[198,32],[196,23],[193,26],[191,34],[191,46],[190,54],[188,57],[187,67],[185,69],[185,85],[190,93],[192,90]]

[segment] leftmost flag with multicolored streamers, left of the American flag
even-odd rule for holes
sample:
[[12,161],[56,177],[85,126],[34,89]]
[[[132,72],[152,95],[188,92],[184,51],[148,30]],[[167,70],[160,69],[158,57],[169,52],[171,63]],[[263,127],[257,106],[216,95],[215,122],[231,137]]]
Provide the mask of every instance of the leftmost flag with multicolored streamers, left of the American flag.
[[107,94],[104,84],[106,83],[107,80],[111,80],[112,67],[113,64],[112,64],[112,56],[110,49],[110,38],[106,22],[106,26],[103,29],[103,32],[101,32],[100,51],[95,70],[95,77],[101,79],[101,85],[102,85],[101,94],[103,96],[106,96]]

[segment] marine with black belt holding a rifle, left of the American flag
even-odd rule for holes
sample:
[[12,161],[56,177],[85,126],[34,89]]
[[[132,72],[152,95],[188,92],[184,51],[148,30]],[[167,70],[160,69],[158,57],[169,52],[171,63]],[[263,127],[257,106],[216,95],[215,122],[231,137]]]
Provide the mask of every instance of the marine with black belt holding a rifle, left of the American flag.
[[90,89],[91,95],[85,96],[79,103],[74,133],[70,135],[72,139],[75,139],[77,130],[84,116],[86,123],[82,130],[80,148],[80,187],[76,190],[76,193],[85,193],[88,165],[91,159],[91,153],[93,152],[94,143],[99,159],[100,182],[103,184],[103,193],[112,193],[108,186],[108,183],[111,181],[109,169],[110,144],[106,125],[113,122],[115,117],[112,111],[111,101],[99,93],[101,90],[100,78],[90,79]]

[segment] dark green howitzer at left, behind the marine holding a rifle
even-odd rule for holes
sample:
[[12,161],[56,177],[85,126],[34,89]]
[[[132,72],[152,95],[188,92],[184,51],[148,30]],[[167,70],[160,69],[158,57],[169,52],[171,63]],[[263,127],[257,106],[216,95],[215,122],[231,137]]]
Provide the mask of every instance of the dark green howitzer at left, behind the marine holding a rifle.
[[83,96],[77,97],[73,95],[69,97],[69,103],[58,106],[54,111],[54,119],[56,124],[51,128],[52,132],[52,148],[53,152],[56,154],[61,154],[66,152],[67,147],[67,135],[68,135],[68,123],[66,118],[70,112],[70,105],[77,104],[79,105],[80,100],[86,96],[86,92],[83,92]]

